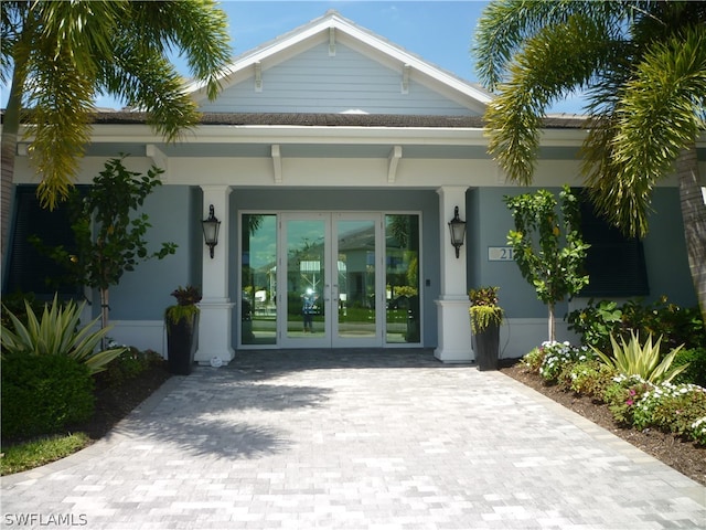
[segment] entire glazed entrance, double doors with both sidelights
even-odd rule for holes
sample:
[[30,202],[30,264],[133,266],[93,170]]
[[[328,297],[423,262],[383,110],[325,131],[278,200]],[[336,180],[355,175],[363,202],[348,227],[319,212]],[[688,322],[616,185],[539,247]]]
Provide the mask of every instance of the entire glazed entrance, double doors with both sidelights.
[[242,344],[364,348],[420,341],[418,215],[297,212],[242,219]]

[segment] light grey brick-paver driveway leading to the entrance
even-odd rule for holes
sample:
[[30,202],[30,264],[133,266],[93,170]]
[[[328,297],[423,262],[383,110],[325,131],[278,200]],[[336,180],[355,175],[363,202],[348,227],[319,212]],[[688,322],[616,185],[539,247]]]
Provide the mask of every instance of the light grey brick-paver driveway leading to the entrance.
[[247,352],[2,480],[4,528],[706,528],[706,488],[428,350]]

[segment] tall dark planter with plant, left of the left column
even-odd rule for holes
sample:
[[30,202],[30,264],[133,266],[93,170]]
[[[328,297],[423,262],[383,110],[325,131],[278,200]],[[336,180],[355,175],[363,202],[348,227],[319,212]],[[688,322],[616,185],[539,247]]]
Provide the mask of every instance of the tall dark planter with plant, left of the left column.
[[175,306],[164,311],[167,325],[167,360],[169,371],[178,375],[189,375],[194,363],[199,343],[199,306],[201,293],[193,286],[174,289]]

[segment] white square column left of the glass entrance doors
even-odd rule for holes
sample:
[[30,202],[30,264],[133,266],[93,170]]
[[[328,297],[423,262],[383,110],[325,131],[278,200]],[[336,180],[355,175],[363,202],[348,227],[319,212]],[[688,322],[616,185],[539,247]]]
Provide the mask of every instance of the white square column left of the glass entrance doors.
[[227,364],[235,357],[231,346],[232,310],[234,304],[228,298],[228,263],[229,263],[229,186],[202,186],[204,216],[213,204],[214,214],[221,221],[218,244],[214,247],[213,258],[208,247],[202,243],[202,294],[199,307],[199,349],[195,360],[199,364],[210,364],[217,358]]

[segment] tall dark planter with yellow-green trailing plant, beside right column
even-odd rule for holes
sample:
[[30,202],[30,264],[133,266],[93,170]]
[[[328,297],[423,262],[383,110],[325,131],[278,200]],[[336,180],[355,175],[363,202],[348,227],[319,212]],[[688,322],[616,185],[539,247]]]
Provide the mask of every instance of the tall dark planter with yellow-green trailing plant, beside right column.
[[503,309],[498,305],[500,287],[479,287],[469,290],[471,299],[471,330],[475,338],[475,362],[478,369],[498,370],[500,357],[500,325]]

